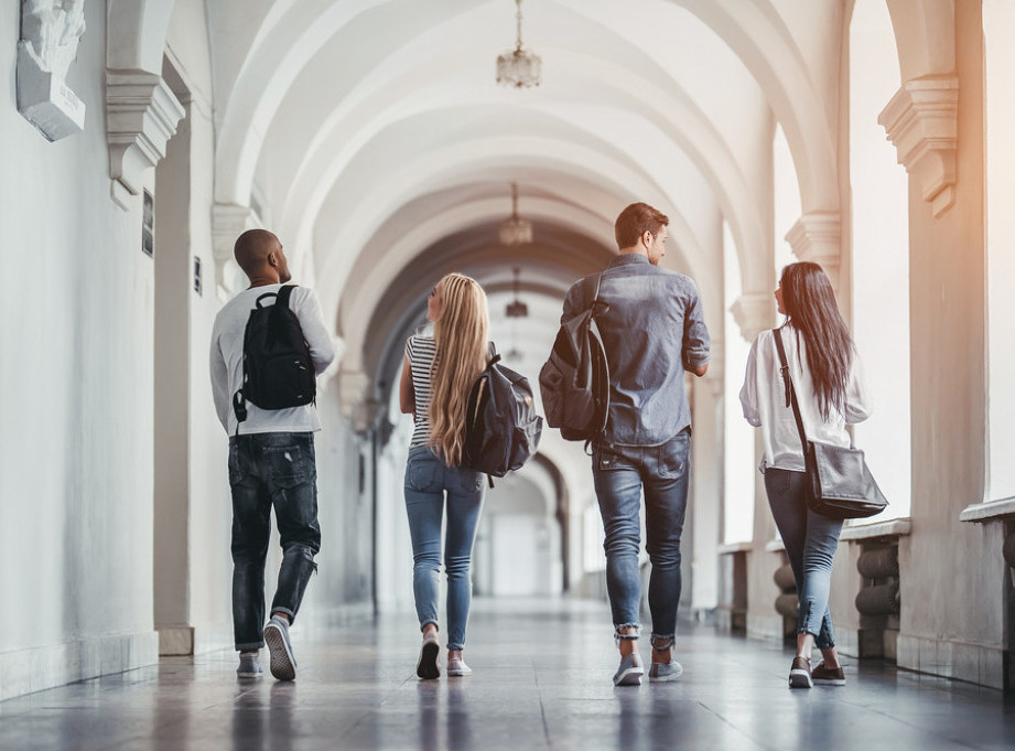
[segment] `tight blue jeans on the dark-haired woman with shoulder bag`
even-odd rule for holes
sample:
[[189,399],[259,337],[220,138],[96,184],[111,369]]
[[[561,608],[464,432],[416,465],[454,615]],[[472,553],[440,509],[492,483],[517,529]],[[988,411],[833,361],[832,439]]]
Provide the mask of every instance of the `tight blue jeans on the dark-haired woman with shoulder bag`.
[[797,582],[800,613],[797,633],[814,635],[819,650],[835,646],[829,589],[832,584],[832,559],[839,547],[842,522],[807,507],[807,474],[791,470],[765,470],[765,491],[776,526],[782,536],[786,555]]

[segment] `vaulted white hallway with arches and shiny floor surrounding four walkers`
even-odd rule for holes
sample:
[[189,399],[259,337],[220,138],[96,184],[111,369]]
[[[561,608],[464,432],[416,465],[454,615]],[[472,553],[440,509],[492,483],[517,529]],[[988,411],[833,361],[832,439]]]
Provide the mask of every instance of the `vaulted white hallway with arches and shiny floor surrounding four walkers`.
[[[0,600],[21,616],[0,629],[0,748],[487,748],[486,730],[807,748],[813,722],[856,745],[998,748],[1013,36],[1011,0],[3,4]],[[687,680],[611,688],[590,459],[547,429],[479,523],[483,669],[417,686],[406,340],[462,271],[535,384],[566,290],[611,261],[635,201],[670,217],[662,265],[694,280],[711,334],[687,386]],[[234,242],[255,227],[315,290],[337,352],[316,400],[309,669],[289,688],[233,676],[208,376],[215,317],[247,283]],[[835,558],[850,684],[809,697],[784,690],[796,593],[738,400],[796,260],[834,285],[874,405],[853,438],[889,500]]]

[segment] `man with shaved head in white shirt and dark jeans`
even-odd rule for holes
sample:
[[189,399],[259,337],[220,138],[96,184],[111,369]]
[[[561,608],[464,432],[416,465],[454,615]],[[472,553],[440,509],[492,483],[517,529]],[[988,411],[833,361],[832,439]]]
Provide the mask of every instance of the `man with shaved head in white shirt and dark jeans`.
[[[212,330],[212,394],[218,419],[229,434],[229,485],[233,489],[233,627],[241,678],[262,674],[260,648],[267,643],[271,674],[279,680],[296,676],[289,626],[296,616],[314,556],[321,549],[317,525],[317,470],[314,432],[321,429],[314,404],[261,409],[249,399],[234,406],[244,385],[244,333],[250,311],[271,304],[291,279],[279,238],[250,229],[234,247],[236,262],[250,287],[223,307]],[[303,330],[316,375],[335,358],[332,337],[316,296],[305,287],[287,288],[289,308]],[[239,416],[237,415],[239,412]],[[246,412],[246,415],[244,415]],[[264,559],[271,532],[271,509],[282,544],[282,566],[264,623]]]

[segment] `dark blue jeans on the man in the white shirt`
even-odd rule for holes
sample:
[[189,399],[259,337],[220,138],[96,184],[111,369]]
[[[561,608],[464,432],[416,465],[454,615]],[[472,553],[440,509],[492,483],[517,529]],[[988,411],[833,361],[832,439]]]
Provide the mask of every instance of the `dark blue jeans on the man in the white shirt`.
[[317,468],[314,434],[270,432],[229,438],[233,489],[233,631],[236,648],[264,645],[264,560],[271,508],[282,544],[271,612],[295,620],[310,575],[317,570]]

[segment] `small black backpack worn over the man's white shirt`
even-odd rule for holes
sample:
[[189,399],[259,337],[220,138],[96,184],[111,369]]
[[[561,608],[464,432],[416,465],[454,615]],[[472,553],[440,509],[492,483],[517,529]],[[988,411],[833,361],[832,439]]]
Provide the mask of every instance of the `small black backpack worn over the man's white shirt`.
[[[244,332],[244,385],[233,396],[237,422],[247,419],[247,401],[261,409],[284,409],[310,404],[317,379],[300,319],[289,308],[293,285],[257,299]],[[266,298],[277,298],[263,307]],[[239,430],[239,426],[237,426]]]

